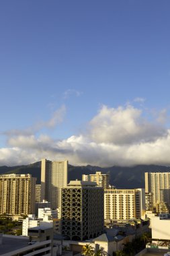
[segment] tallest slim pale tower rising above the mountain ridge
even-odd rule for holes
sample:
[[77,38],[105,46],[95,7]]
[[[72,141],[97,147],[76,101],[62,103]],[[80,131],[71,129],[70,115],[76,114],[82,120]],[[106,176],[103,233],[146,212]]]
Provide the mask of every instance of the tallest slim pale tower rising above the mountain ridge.
[[60,207],[61,189],[67,186],[68,161],[42,159],[41,201],[50,202],[52,209]]

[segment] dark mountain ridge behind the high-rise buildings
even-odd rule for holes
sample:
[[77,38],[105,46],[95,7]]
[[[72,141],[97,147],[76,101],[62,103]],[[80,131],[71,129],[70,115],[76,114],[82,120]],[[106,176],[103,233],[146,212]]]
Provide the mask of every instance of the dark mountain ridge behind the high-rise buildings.
[[[137,165],[132,167],[112,166],[101,168],[99,166],[72,166],[69,164],[69,181],[81,179],[82,174],[93,174],[97,170],[110,174],[110,184],[118,189],[144,188],[144,172],[170,172],[169,166]],[[22,166],[0,166],[0,174],[32,174],[40,184],[41,162]]]

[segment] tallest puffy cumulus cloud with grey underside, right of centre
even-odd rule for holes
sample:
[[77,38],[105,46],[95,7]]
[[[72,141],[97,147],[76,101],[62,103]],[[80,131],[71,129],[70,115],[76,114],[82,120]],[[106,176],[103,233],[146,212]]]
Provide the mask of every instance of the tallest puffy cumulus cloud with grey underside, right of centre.
[[142,110],[133,106],[108,108],[102,106],[90,122],[91,139],[98,143],[126,144],[153,141],[165,135],[166,130],[158,123],[142,118]]

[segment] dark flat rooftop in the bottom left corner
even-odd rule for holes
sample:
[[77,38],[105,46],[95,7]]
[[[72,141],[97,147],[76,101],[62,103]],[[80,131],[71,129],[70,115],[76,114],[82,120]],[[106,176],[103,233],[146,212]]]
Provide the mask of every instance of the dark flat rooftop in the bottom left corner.
[[3,236],[2,245],[0,245],[0,255],[28,247],[29,238],[22,236],[14,236],[14,238]]

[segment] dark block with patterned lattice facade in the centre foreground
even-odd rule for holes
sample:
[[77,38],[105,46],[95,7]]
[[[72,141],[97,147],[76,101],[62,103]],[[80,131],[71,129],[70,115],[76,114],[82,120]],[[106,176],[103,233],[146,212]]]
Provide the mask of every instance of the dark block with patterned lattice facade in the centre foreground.
[[83,241],[103,234],[103,188],[87,181],[71,181],[62,189],[62,234]]

